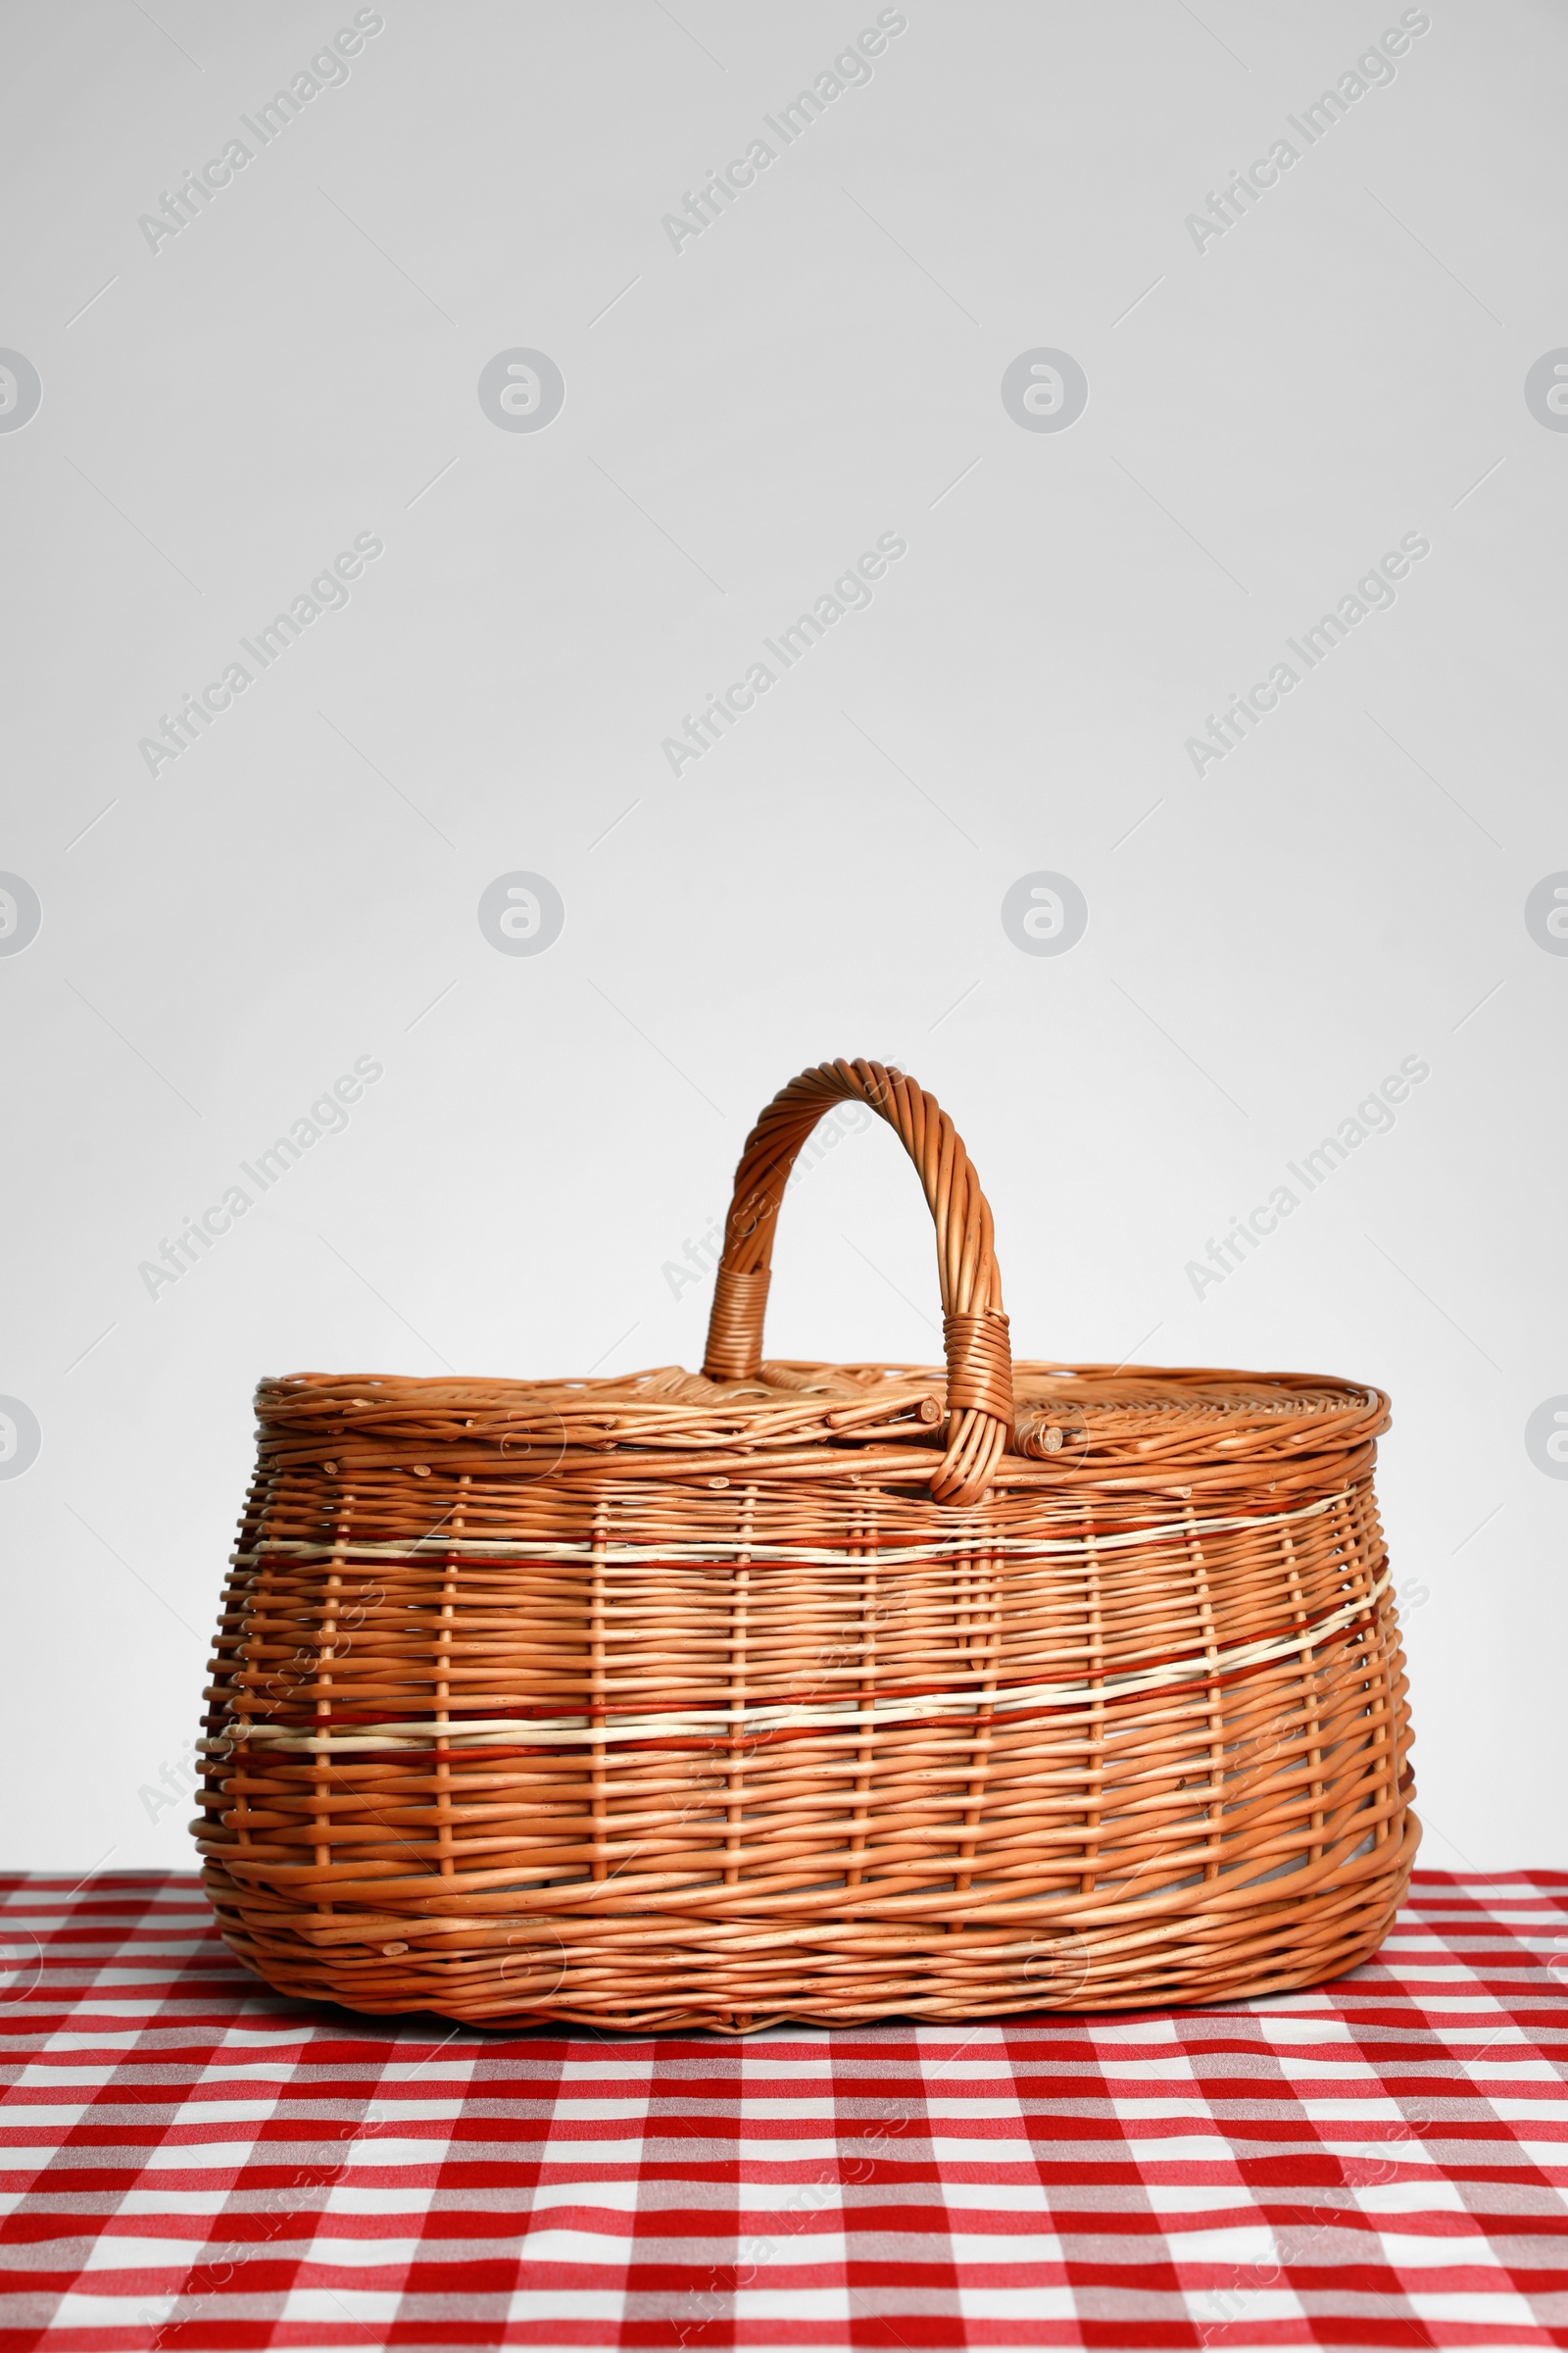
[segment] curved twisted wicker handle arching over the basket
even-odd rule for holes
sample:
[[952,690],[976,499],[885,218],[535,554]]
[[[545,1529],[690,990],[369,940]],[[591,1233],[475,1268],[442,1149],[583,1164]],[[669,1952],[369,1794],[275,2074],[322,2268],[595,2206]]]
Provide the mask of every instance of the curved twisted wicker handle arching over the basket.
[[973,1504],[1013,1438],[1013,1353],[992,1214],[957,1127],[903,1071],[879,1061],[818,1064],[780,1087],[752,1127],[724,1224],[703,1372],[710,1381],[755,1381],[762,1372],[778,1205],[802,1144],[832,1104],[865,1104],[886,1120],[926,1188],[947,1348],[947,1454],[931,1494],[938,1504]]

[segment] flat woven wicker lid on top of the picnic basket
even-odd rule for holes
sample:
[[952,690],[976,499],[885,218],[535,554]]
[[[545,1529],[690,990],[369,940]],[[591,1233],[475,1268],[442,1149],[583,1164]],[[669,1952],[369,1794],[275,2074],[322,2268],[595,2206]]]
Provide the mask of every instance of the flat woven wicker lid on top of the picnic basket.
[[[604,1478],[607,1457],[618,1457],[628,1478],[729,1485],[837,1466],[926,1485],[945,1449],[945,1381],[940,1365],[783,1360],[748,1381],[679,1365],[583,1381],[301,1372],[263,1381],[256,1417],[268,1464],[343,1478]],[[1380,1388],[1293,1372],[1018,1362],[1013,1384],[994,1487],[1182,1492],[1269,1485],[1281,1471],[1340,1478],[1389,1421]]]

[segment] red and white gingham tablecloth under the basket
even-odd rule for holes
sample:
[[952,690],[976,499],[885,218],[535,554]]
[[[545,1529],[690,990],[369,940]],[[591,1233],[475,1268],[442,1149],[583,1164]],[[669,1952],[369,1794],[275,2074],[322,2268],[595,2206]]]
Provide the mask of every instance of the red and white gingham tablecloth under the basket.
[[1418,1873],[1316,1993],[745,2042],[287,2002],[188,1878],[0,1899],[0,2346],[1568,2346],[1568,1873]]

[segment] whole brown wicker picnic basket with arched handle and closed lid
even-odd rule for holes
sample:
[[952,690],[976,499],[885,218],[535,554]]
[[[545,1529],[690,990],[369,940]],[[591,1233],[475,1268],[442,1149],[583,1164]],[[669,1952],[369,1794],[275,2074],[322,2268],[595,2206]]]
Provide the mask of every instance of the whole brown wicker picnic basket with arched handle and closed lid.
[[[945,1372],[764,1362],[835,1104],[907,1148]],[[992,1219],[898,1071],[736,1172],[701,1374],[263,1381],[197,1842],[270,1986],[745,2033],[1211,2002],[1366,1960],[1408,1708],[1378,1388],[1009,1358]]]

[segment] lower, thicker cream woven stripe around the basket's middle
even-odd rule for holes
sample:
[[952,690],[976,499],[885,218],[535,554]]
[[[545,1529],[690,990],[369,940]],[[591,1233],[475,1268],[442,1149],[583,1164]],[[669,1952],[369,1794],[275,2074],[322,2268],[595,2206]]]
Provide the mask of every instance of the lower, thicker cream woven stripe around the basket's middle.
[[[693,1713],[654,1713],[654,1715],[625,1715],[618,1722],[609,1718],[590,1722],[578,1715],[569,1722],[541,1725],[541,1722],[515,1722],[508,1718],[473,1718],[461,1729],[454,1725],[444,1732],[447,1746],[451,1748],[501,1748],[501,1746],[569,1746],[592,1741],[649,1741],[649,1739],[672,1739],[679,1734],[696,1734],[701,1739],[724,1739],[743,1732],[790,1732],[797,1727],[823,1725],[825,1729],[853,1729],[863,1732],[870,1725],[893,1725],[907,1722],[922,1715],[969,1715],[978,1708],[987,1708],[992,1715],[1004,1715],[1016,1708],[1032,1708],[1041,1701],[1053,1708],[1072,1706],[1074,1701],[1088,1699],[1135,1699],[1143,1692],[1159,1692],[1173,1682],[1211,1682],[1218,1675],[1229,1675],[1237,1668],[1248,1666],[1272,1666],[1276,1659],[1293,1659],[1302,1649],[1316,1649],[1328,1635],[1340,1633],[1345,1626],[1354,1624],[1373,1602],[1382,1600],[1389,1591],[1392,1569],[1385,1569],[1378,1584],[1352,1602],[1345,1602],[1331,1617],[1319,1619],[1314,1626],[1302,1626],[1291,1635],[1274,1642],[1237,1642],[1218,1654],[1201,1652],[1192,1659],[1166,1659],[1161,1666],[1145,1666],[1131,1675],[1105,1675],[1100,1682],[1030,1682],[1009,1692],[933,1692],[917,1699],[879,1699],[870,1708],[860,1706],[858,1699],[844,1699],[832,1706],[818,1708],[743,1708],[731,1715],[726,1708],[701,1708]],[[994,1673],[994,1671],[992,1671]],[[292,1725],[256,1725],[242,1727],[242,1718],[230,1718],[235,1732],[230,1741],[202,1741],[205,1748],[216,1753],[228,1753],[233,1741],[249,1741],[252,1746],[266,1748],[296,1748],[301,1753],[343,1753],[353,1748],[430,1748],[433,1727],[430,1725],[376,1725],[367,1732],[299,1732]]]

